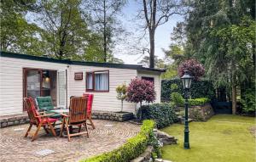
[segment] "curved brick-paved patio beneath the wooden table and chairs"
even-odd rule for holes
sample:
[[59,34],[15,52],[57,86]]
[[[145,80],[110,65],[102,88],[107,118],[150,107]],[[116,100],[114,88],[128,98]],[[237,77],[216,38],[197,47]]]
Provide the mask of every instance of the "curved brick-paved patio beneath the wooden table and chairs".
[[[0,129],[1,161],[79,161],[96,154],[102,154],[119,148],[126,140],[139,131],[139,126],[128,122],[110,120],[94,120],[96,129],[89,126],[90,138],[86,135],[73,137],[67,142],[65,137],[47,135],[42,129],[38,139],[31,142],[24,134],[28,125],[10,126]],[[34,127],[35,130],[35,127]],[[34,131],[32,130],[32,131]],[[38,151],[49,149],[54,151],[46,156],[38,155]]]

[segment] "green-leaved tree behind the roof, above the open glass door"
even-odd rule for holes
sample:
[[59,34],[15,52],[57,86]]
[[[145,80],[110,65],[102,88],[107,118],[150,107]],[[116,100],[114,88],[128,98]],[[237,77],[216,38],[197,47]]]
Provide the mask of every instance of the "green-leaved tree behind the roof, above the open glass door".
[[78,59],[80,57],[75,54],[84,54],[91,37],[80,5],[80,0],[41,1],[39,23],[44,25],[44,39],[49,51],[54,53],[48,53],[50,57]]

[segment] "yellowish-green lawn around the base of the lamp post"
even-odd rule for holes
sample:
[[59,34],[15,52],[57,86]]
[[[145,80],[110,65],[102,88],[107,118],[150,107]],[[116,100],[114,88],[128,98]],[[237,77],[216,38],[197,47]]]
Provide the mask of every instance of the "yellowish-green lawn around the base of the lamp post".
[[173,162],[255,162],[256,143],[248,128],[255,118],[215,115],[207,122],[189,123],[190,149],[183,149],[183,125],[161,131],[177,137],[177,145],[162,148],[163,159]]

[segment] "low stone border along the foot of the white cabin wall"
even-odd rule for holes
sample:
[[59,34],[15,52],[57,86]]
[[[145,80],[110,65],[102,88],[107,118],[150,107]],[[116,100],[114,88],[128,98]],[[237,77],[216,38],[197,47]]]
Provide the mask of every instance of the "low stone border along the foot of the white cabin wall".
[[[134,118],[133,113],[115,113],[109,111],[93,111],[91,115],[93,120],[113,120],[113,121],[126,121]],[[0,117],[0,128],[7,126],[16,126],[29,123],[26,113],[21,115],[7,115]]]

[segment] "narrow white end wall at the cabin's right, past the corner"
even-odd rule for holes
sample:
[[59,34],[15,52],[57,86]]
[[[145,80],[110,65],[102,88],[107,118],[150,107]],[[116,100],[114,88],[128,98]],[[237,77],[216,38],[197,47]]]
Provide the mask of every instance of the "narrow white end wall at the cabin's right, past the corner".
[[156,92],[156,99],[154,103],[160,103],[161,96],[161,77],[159,72],[151,72],[151,71],[138,71],[138,78],[145,77],[154,77],[154,90]]

